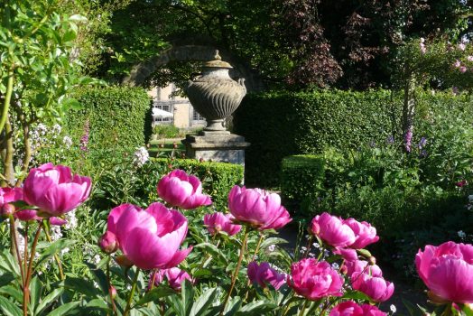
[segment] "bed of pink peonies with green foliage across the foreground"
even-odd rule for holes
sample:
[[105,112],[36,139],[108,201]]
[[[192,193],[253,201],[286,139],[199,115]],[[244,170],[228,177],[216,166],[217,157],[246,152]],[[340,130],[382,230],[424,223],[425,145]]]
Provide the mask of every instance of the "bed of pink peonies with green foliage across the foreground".
[[[369,223],[324,212],[311,220],[307,246],[290,254],[276,233],[292,221],[279,195],[234,186],[229,212],[211,210],[199,179],[180,170],[162,177],[146,209],[111,209],[101,237],[81,237],[98,239],[97,264],[68,272],[79,263],[64,250],[80,238],[53,241],[51,232],[71,224],[68,213],[90,190],[88,177],[51,163],[32,169],[23,188],[1,189],[11,246],[0,262],[5,314],[385,315],[377,304],[394,293],[366,249],[379,239]],[[442,311],[472,312],[473,246],[425,246],[415,263]]]

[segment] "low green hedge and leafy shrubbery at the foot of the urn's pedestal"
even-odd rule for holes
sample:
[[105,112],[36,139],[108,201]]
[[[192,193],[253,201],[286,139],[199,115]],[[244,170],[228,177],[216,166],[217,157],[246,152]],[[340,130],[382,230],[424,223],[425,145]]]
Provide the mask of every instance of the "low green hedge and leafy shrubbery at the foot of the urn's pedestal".
[[[107,154],[107,153],[105,153]],[[113,153],[111,153],[113,156]],[[130,154],[109,158],[93,171],[96,186],[92,204],[97,209],[111,209],[130,202],[146,206],[157,200],[158,181],[172,169],[182,169],[195,174],[203,191],[212,197],[213,206],[219,210],[227,206],[230,189],[243,181],[243,167],[230,163],[199,163],[191,159],[151,158],[143,166],[136,166]],[[88,171],[86,174],[88,174]]]

